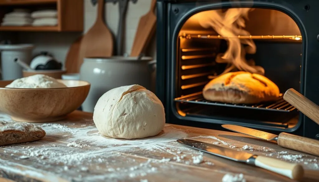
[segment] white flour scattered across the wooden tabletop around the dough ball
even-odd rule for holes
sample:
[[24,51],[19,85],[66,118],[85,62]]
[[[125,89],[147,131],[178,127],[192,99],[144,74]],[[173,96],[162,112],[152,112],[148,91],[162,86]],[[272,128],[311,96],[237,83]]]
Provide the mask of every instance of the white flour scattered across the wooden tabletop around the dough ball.
[[[5,118],[0,113],[1,117]],[[76,122],[80,123],[76,124]],[[222,138],[215,136],[189,135],[172,125],[167,125],[159,135],[134,140],[101,136],[92,119],[38,123],[37,125],[46,131],[46,137],[37,142],[0,147],[0,151],[3,151],[2,154],[0,152],[0,169],[10,168],[9,163],[4,160],[10,158],[10,161],[17,161],[19,164],[32,164],[33,170],[49,171],[70,181],[115,182],[131,179],[147,182],[150,181],[149,176],[166,174],[167,171],[183,171],[191,181],[191,172],[187,171],[185,164],[196,166],[196,168],[210,168],[210,172],[214,171],[214,165],[216,168],[219,167],[218,162],[212,163],[209,155],[176,142],[177,139],[185,138],[230,147],[234,150],[259,152],[258,154],[271,155],[280,160],[294,160],[307,164],[308,168],[319,169],[317,159],[308,158],[306,155],[275,151],[257,145],[250,146],[235,140],[225,142],[226,140],[223,141]],[[222,175],[226,172],[228,171],[217,171]],[[20,172],[17,171],[17,173]],[[218,181],[222,180],[222,175],[219,175]],[[244,175],[249,179],[248,174]],[[227,179],[233,182],[234,179],[238,179],[243,182],[245,180],[243,174],[227,173],[225,176],[223,181]],[[196,180],[193,178],[193,181]]]

